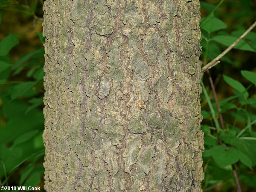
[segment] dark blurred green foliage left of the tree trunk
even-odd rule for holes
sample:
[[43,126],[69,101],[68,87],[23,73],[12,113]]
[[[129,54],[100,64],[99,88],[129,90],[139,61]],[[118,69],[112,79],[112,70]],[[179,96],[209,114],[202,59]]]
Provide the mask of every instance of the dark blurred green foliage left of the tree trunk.
[[[35,14],[35,7],[1,0],[0,20],[4,10]],[[37,35],[41,47],[15,62],[9,52],[20,43],[17,35],[9,34],[0,41],[1,186],[35,187],[44,174],[44,38]]]

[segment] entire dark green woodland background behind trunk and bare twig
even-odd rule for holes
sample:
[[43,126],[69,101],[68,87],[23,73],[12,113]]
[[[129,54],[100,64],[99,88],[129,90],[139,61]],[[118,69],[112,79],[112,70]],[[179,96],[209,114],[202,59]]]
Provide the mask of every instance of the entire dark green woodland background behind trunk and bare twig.
[[[201,61],[205,64],[252,25],[256,18],[256,1],[204,0],[200,3],[201,17],[206,17],[201,23]],[[0,0],[2,186],[40,186],[43,189],[44,185],[42,5],[43,0]],[[204,191],[236,191],[234,170],[243,192],[256,188],[255,52],[256,29],[253,29],[242,44],[210,70],[215,90],[209,83],[209,75],[204,74],[201,94],[205,134]]]

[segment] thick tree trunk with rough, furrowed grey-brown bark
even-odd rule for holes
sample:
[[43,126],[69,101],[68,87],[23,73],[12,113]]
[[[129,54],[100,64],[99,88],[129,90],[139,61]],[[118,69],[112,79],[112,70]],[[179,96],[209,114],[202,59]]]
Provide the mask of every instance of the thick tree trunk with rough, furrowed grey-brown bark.
[[47,191],[201,191],[199,8],[45,2]]

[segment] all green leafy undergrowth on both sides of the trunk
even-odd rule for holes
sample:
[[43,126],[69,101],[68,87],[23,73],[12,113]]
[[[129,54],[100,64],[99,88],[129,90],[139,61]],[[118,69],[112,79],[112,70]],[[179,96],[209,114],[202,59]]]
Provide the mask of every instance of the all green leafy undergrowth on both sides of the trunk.
[[[230,34],[227,25],[220,20],[217,6],[201,2],[201,8],[208,12],[202,18],[202,60],[203,64],[213,60],[225,46],[230,46],[245,29],[242,27]],[[1,0],[0,11],[9,10],[37,17],[38,1],[32,6]],[[1,20],[1,12],[0,12]],[[1,28],[1,26],[0,26]],[[15,34],[6,35],[0,41],[0,185],[38,186],[42,181],[44,168],[43,66],[44,38],[38,33],[42,45],[33,52],[13,62],[10,50],[19,44]],[[235,47],[241,51],[256,52],[256,33],[250,32]],[[221,58],[221,64],[234,61],[230,56]],[[205,76],[211,78],[209,71]],[[250,82],[244,86],[234,77],[223,74],[225,87],[232,87],[232,96],[218,99],[214,84],[205,79],[203,93],[201,128],[204,131],[203,154],[205,178],[204,191],[228,191],[256,187],[256,73],[241,70],[241,76]],[[215,96],[215,97],[214,97]],[[236,175],[234,175],[234,172]],[[18,178],[18,180],[17,180]],[[240,183],[240,184],[239,184]]]

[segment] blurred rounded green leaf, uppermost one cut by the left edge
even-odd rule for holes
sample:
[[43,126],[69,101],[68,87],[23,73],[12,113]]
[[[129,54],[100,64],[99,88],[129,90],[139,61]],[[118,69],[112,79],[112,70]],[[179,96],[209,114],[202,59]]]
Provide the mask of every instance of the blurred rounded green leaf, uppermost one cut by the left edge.
[[19,44],[18,38],[10,34],[0,41],[0,56],[7,55],[15,45]]

